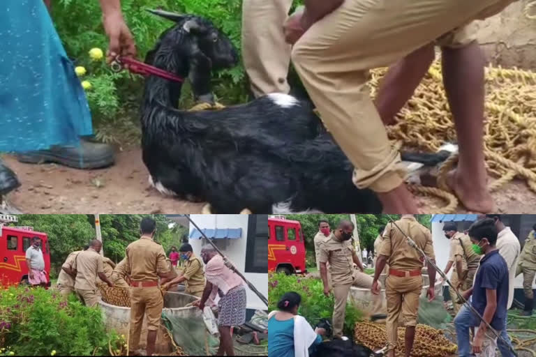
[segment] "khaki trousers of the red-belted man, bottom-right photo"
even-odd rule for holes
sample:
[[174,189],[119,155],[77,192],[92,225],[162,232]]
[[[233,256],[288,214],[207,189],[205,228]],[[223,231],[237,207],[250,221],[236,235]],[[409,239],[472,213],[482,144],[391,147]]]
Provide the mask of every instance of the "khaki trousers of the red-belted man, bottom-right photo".
[[385,296],[387,298],[387,348],[396,349],[398,341],[396,329],[402,314],[403,326],[417,326],[419,296],[422,291],[422,276],[400,278],[389,275],[385,280]]

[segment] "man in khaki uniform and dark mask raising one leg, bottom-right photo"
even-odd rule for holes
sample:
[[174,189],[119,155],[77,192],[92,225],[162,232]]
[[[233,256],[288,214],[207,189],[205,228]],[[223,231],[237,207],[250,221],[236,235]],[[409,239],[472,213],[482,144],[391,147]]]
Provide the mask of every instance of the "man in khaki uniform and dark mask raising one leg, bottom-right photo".
[[[320,276],[324,282],[324,294],[329,295],[329,282],[327,280],[326,264],[329,262],[332,273],[332,287],[335,297],[333,310],[333,337],[341,338],[343,335],[346,301],[350,287],[364,287],[371,289],[372,277],[363,273],[363,266],[355,254],[350,243],[354,225],[348,220],[339,222],[337,229],[327,240],[320,243]],[[355,271],[354,263],[360,271]],[[381,314],[381,296],[373,298],[371,317],[375,319]],[[384,315],[385,317],[385,315]]]

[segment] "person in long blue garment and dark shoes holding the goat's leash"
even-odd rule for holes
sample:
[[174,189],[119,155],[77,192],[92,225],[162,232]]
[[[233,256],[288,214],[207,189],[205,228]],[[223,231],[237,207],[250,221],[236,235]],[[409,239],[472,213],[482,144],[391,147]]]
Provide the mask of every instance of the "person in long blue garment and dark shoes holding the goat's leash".
[[[134,56],[135,43],[119,0],[100,1],[110,38],[109,59],[112,52]],[[0,152],[20,153],[23,162],[52,161],[77,168],[112,163],[109,146],[80,141],[93,133],[89,106],[43,0],[1,3]],[[2,196],[19,185],[0,159],[0,204]]]

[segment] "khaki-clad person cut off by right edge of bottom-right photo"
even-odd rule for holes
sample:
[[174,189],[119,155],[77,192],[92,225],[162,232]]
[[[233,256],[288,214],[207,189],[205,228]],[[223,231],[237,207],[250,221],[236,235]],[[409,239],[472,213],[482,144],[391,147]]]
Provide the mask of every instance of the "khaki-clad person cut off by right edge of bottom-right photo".
[[536,225],[530,231],[523,245],[523,251],[516,268],[516,276],[523,273],[523,291],[525,292],[525,308],[522,316],[531,316],[534,308],[533,282],[536,276]]

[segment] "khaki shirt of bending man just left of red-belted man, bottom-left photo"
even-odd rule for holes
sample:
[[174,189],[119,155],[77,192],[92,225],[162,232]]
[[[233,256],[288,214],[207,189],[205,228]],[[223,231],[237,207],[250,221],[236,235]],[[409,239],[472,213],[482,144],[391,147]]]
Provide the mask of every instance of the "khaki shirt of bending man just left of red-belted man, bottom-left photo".
[[75,289],[96,290],[98,273],[104,273],[103,257],[93,248],[80,252],[75,259]]

